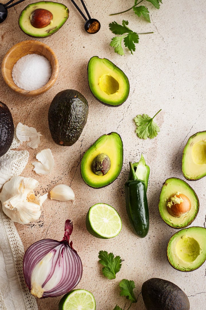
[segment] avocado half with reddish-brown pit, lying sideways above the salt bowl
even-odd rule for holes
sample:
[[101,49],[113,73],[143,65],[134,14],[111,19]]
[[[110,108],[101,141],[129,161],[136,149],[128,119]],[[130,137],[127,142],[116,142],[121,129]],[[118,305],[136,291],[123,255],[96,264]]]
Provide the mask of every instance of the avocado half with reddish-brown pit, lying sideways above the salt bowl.
[[44,38],[57,32],[69,17],[68,8],[58,2],[34,2],[19,15],[20,29],[30,37]]

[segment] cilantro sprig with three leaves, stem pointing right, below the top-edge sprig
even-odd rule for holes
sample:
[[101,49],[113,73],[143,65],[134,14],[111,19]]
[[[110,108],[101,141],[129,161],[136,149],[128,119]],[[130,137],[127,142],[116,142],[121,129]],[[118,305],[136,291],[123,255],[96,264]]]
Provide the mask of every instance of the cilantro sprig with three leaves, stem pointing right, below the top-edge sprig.
[[114,37],[111,39],[110,46],[114,47],[115,52],[119,55],[124,55],[122,48],[122,40],[124,41],[125,47],[128,47],[129,51],[133,55],[136,50],[135,43],[139,43],[139,34],[148,34],[153,32],[136,33],[128,28],[128,20],[122,20],[122,24],[117,24],[113,21],[109,24],[109,29],[112,33],[120,35],[120,37]]

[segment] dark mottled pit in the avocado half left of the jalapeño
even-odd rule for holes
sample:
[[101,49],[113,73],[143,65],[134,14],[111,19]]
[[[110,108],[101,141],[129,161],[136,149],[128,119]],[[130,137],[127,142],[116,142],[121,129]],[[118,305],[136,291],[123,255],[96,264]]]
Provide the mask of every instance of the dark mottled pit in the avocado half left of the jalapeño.
[[98,154],[92,161],[91,170],[96,175],[105,175],[111,167],[111,161],[107,154]]

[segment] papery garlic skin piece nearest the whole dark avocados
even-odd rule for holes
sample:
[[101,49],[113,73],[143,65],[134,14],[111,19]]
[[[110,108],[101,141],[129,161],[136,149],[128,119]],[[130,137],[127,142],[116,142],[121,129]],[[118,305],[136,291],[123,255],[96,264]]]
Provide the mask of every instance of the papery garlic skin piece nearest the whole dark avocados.
[[34,127],[28,127],[19,122],[16,126],[16,136],[21,142],[30,141],[27,143],[30,148],[38,148],[41,134]]

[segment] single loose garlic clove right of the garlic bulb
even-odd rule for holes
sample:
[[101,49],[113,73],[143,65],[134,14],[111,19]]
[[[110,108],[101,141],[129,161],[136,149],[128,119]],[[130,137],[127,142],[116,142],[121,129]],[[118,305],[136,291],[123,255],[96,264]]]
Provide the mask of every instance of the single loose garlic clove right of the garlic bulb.
[[50,191],[50,198],[59,201],[74,200],[74,192],[68,185],[58,184]]

